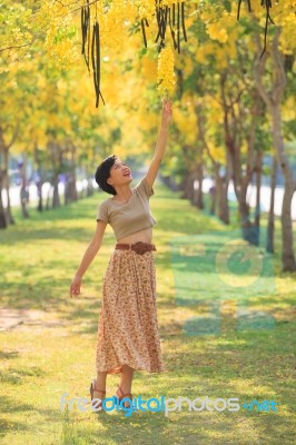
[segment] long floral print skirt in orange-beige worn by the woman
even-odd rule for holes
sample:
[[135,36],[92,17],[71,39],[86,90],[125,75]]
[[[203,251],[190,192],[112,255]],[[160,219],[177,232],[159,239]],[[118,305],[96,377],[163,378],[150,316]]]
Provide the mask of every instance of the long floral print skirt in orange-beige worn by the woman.
[[114,249],[103,276],[96,367],[97,372],[119,374],[122,365],[165,372],[152,250]]

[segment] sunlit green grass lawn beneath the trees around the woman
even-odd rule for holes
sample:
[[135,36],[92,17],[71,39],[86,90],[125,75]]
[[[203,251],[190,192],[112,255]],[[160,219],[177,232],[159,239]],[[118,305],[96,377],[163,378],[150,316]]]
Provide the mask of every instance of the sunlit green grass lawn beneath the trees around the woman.
[[[63,393],[89,397],[96,376],[102,277],[116,241],[110,226],[83,277],[81,296],[70,299],[68,294],[96,228],[97,204],[106,199],[96,192],[42,215],[31,209],[28,220],[14,210],[16,226],[0,233],[1,444],[295,443],[296,279],[280,271],[279,220],[276,254],[264,258],[273,273],[268,269],[260,286],[256,270],[243,273],[239,287],[223,268],[225,256],[219,274],[213,263],[235,238],[235,221],[224,226],[160,182],[155,190],[150,206],[157,220],[152,241],[166,372],[136,372],[134,397],[238,398],[240,409],[190,412],[184,403],[167,416],[60,411]],[[264,234],[266,218],[262,224]],[[250,260],[260,257],[255,249],[249,255]],[[118,382],[118,375],[108,376],[107,396]],[[268,403],[250,411],[251,400],[274,400],[277,411],[270,405],[268,411]]]

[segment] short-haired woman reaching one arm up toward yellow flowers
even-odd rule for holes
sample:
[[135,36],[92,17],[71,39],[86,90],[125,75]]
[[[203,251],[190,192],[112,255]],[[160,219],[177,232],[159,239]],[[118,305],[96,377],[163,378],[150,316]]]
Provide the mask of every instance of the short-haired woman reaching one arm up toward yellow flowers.
[[[131,171],[119,157],[106,158],[96,171],[99,187],[114,195],[98,207],[97,229],[70,285],[70,296],[80,294],[82,276],[99,251],[109,222],[117,238],[103,277],[98,322],[97,379],[90,396],[106,398],[107,374],[121,373],[116,399],[132,399],[135,370],[164,372],[156,307],[155,245],[149,198],[165,154],[171,102],[162,100],[161,129],[146,176],[131,189]],[[127,402],[126,402],[127,403]],[[101,409],[101,402],[96,411]],[[126,404],[125,404],[126,405]]]

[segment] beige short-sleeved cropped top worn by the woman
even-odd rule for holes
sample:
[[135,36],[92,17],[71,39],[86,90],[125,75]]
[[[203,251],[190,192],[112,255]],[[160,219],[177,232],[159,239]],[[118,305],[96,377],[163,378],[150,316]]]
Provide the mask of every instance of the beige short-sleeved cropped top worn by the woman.
[[108,198],[98,205],[97,221],[102,219],[110,224],[117,240],[157,224],[149,207],[149,198],[155,191],[148,186],[146,177],[131,190],[132,195],[126,204]]

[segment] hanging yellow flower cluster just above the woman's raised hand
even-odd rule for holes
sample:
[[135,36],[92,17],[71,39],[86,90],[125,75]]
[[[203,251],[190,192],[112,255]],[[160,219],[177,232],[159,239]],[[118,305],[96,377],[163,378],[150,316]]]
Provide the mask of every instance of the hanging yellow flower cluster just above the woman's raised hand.
[[175,92],[176,76],[174,66],[174,51],[170,46],[167,46],[158,55],[157,65],[157,90],[162,97],[171,96]]

